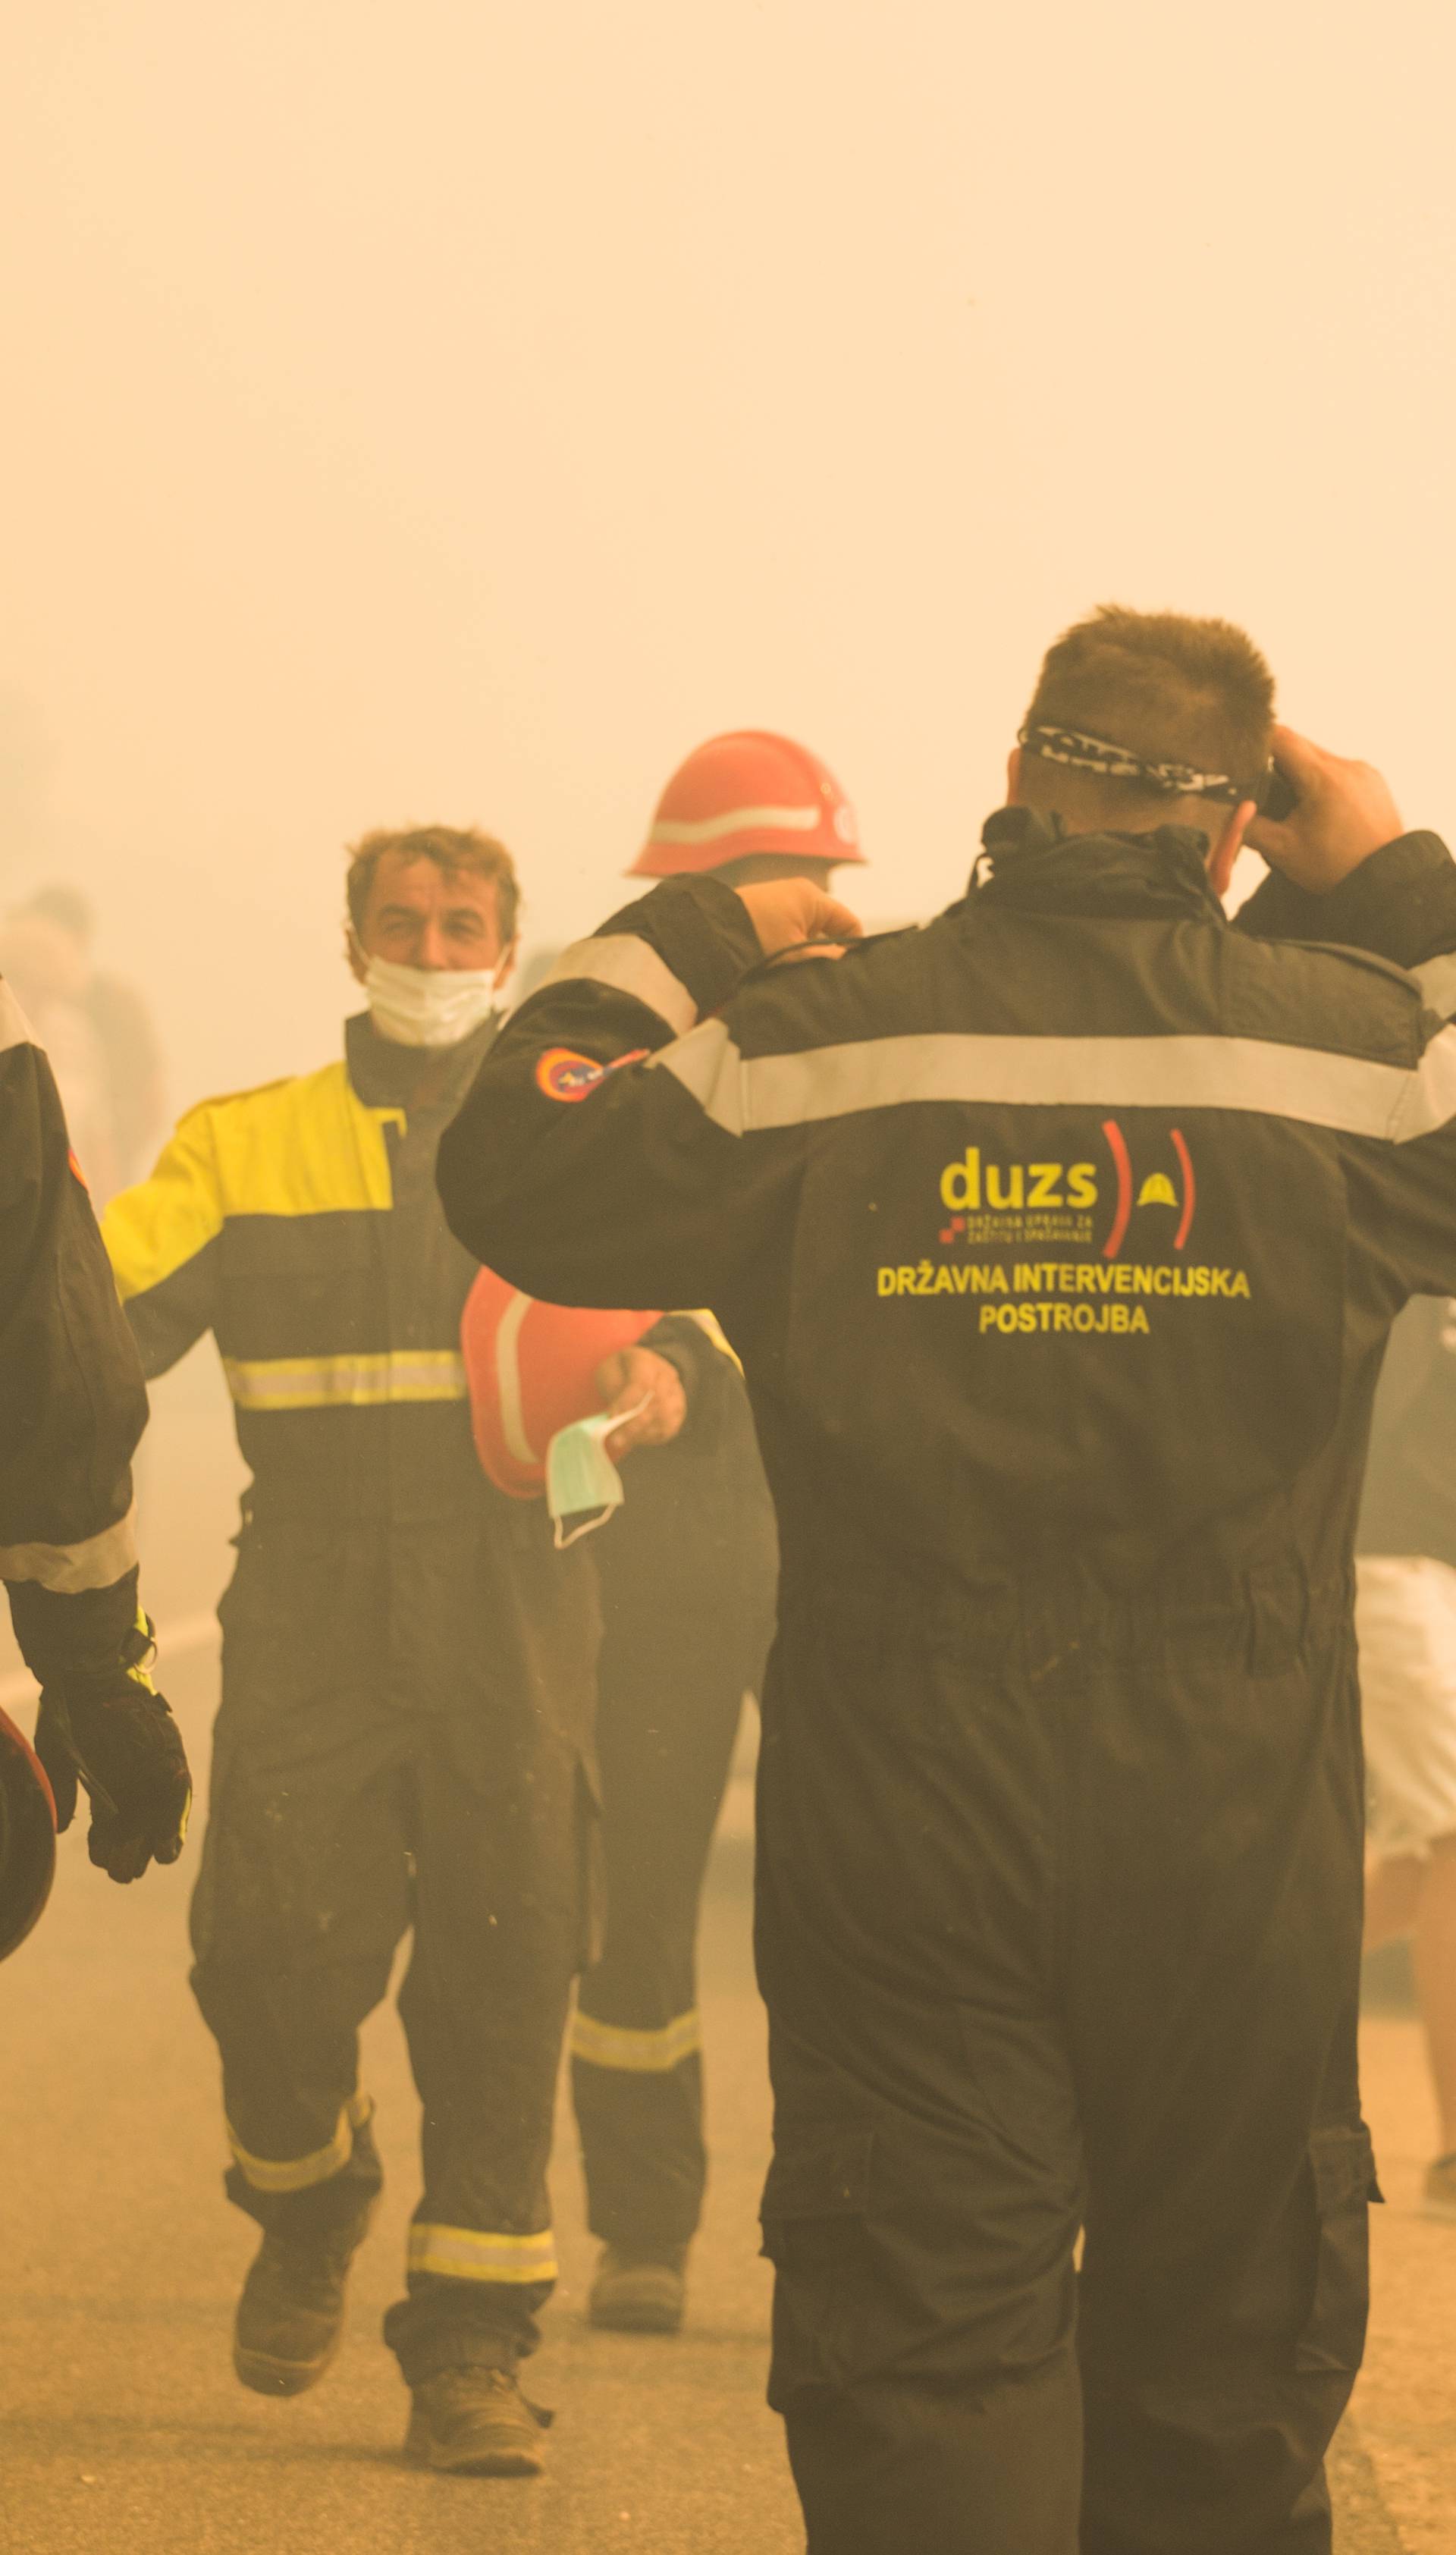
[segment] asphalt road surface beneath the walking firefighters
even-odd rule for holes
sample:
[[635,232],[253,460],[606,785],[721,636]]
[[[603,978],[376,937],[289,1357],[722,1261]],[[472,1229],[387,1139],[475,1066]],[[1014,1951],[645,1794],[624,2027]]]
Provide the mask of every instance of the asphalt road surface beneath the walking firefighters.
[[[197,1428],[215,1421],[202,1408]],[[151,1495],[151,1602],[194,1628],[222,1576],[230,1505],[217,1433],[209,1449],[209,1461],[156,1461]],[[163,1676],[204,1766],[212,1648],[184,1651]],[[197,1852],[118,1891],[89,1868],[79,1834],[64,1842],[51,1909],[0,1970],[3,2555],[802,2547],[779,2425],[764,2407],[769,2274],[756,2202],[769,2116],[741,1799],[728,1827],[702,1934],[713,2190],[690,2322],[677,2340],[588,2330],[595,2248],[562,2116],[562,2284],[529,2379],[557,2407],[542,2481],[437,2478],[398,2455],[406,2394],[378,2325],[398,2294],[416,2195],[416,2100],[391,2008],[365,2034],[388,2185],[355,2266],[345,2351],[291,2404],[238,2386],[230,2320],[255,2231],[222,2197],[217,2064],[186,1990]],[[1456,2228],[1415,2208],[1433,2121],[1405,2013],[1367,2021],[1367,2108],[1390,2205],[1374,2213],[1369,2363],[1333,2458],[1336,2545],[1456,2555]]]

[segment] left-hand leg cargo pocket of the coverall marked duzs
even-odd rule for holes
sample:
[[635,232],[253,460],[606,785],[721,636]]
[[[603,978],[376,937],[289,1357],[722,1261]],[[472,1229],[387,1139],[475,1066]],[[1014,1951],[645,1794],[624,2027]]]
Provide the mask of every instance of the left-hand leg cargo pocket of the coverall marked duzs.
[[863,2363],[863,2264],[874,2131],[787,2144],[764,2182],[764,2254],[774,2264],[777,2412],[805,2386],[843,2386]]

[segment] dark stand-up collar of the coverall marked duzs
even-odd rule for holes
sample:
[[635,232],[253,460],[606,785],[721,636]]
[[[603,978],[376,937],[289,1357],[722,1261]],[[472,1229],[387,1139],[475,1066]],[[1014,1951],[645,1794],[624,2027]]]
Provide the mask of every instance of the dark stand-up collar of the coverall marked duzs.
[[991,904],[1052,915],[1218,915],[1206,835],[1193,825],[1152,833],[1070,833],[1060,815],[999,807],[981,828],[971,892]]

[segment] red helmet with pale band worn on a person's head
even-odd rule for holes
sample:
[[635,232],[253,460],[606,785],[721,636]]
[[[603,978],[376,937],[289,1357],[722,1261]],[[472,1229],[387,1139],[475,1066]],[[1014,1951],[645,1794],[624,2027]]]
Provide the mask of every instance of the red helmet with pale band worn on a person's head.
[[779,851],[794,861],[863,861],[858,825],[817,754],[766,728],[710,736],[656,802],[628,879],[679,879]]

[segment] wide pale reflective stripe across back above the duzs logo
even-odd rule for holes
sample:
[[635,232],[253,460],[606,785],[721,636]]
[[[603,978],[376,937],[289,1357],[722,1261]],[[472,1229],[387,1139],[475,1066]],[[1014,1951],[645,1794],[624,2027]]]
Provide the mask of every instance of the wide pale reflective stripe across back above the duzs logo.
[[1415,1068],[1264,1037],[871,1037],[741,1055],[720,1019],[654,1055],[728,1134],[912,1101],[1022,1109],[1241,1109],[1407,1145],[1456,1117],[1456,1030]]

